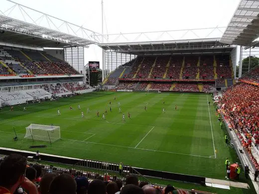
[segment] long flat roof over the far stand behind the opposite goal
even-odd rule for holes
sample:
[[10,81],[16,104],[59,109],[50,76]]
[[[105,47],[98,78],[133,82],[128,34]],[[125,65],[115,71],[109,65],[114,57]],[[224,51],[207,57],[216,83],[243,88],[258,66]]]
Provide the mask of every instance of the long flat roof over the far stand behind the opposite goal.
[[131,43],[101,43],[102,49],[112,52],[122,52],[134,55],[161,54],[206,54],[231,52],[234,45],[219,42],[220,38],[150,41]]

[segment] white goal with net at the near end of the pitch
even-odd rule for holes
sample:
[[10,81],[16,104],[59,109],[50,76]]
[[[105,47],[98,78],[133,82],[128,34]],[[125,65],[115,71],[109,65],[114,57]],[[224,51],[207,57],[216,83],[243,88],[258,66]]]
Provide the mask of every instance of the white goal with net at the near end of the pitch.
[[60,127],[30,124],[26,127],[25,139],[53,142],[60,139]]

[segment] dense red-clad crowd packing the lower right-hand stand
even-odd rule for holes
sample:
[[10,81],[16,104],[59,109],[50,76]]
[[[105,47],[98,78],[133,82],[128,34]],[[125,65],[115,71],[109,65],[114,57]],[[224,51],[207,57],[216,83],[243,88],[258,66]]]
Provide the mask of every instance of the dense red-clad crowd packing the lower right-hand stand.
[[[259,88],[243,83],[229,87],[220,102],[224,117],[251,154],[252,142],[257,147],[259,145]],[[255,166],[259,167],[259,160],[250,156]]]

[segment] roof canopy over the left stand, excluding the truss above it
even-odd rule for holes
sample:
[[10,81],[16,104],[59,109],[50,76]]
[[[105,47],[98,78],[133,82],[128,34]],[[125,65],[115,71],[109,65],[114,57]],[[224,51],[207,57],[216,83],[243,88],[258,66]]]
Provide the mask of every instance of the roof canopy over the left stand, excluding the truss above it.
[[0,15],[0,41],[37,47],[88,46],[96,43],[60,31]]

